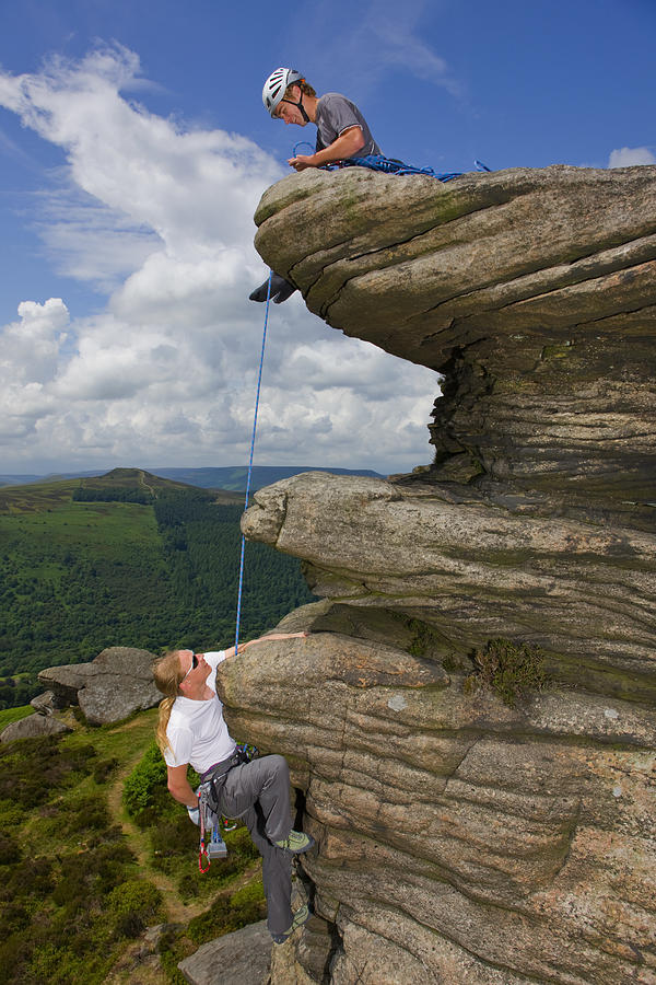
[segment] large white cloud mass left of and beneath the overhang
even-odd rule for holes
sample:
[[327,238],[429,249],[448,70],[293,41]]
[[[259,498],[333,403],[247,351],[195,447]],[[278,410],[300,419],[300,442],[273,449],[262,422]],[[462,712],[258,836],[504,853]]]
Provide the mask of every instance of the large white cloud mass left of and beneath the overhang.
[[[253,213],[283,170],[245,137],[128,100],[138,81],[119,46],[0,72],[0,105],[66,155],[39,213],[52,263],[105,297],[79,316],[23,301],[0,328],[5,471],[247,461],[263,318],[247,298],[266,275]],[[271,311],[259,461],[425,462],[437,392],[296,294]]]

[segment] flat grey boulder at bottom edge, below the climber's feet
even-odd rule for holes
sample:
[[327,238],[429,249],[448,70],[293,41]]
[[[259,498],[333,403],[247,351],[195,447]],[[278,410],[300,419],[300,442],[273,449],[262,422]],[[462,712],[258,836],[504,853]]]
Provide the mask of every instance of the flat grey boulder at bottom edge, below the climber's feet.
[[190,985],[267,985],[271,948],[267,922],[260,920],[203,945],[178,967]]

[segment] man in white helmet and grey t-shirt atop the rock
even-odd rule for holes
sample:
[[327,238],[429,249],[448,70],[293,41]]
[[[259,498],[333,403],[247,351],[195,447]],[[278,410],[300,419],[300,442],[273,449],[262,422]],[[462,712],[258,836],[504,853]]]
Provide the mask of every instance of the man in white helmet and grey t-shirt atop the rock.
[[296,171],[380,153],[358,106],[339,92],[317,96],[296,69],[271,72],[262,89],[262,102],[273,119],[297,127],[313,123],[317,128],[315,153],[296,154],[288,161]]

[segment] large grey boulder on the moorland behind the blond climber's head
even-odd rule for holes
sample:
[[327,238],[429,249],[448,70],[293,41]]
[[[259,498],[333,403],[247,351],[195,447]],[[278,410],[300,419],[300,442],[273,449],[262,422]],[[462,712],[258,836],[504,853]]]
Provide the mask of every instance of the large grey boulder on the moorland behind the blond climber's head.
[[151,671],[154,659],[148,650],[108,647],[91,663],[50,667],[38,680],[60,706],[80,705],[90,725],[106,725],[161,702]]

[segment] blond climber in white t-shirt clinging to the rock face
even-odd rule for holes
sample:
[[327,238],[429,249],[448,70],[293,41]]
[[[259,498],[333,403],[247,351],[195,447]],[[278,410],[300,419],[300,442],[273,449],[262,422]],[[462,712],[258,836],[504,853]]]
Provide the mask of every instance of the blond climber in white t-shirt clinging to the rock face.
[[[260,639],[304,636],[307,633],[277,633]],[[260,639],[249,640],[242,649]],[[155,661],[153,677],[165,695],[160,704],[157,745],[167,766],[168,791],[187,808],[195,824],[200,821],[199,801],[187,778],[189,765],[201,784],[212,783],[216,813],[244,820],[262,857],[269,931],[276,943],[283,943],[311,915],[307,906],[292,913],[291,860],[292,855],[312,848],[314,838],[292,831],[290,774],[283,756],[245,762],[227,731],[216,694],[216,668],[234,652],[234,647],[211,653],[171,650]]]

